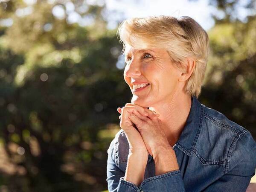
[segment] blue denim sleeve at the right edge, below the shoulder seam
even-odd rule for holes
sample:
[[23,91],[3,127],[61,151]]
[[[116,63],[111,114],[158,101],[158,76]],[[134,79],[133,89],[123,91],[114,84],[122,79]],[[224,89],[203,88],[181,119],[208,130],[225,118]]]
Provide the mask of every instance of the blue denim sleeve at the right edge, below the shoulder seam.
[[256,143],[250,132],[245,132],[237,140],[230,158],[229,171],[204,192],[245,192],[256,169]]

